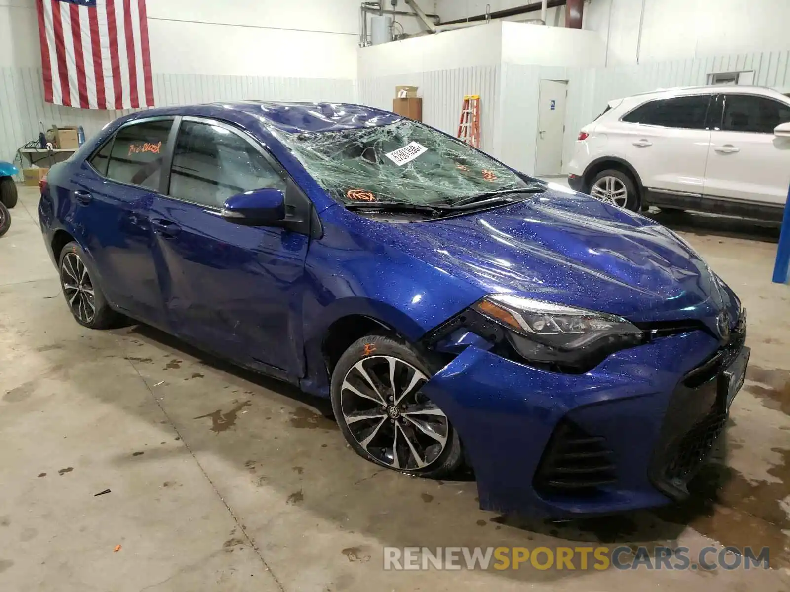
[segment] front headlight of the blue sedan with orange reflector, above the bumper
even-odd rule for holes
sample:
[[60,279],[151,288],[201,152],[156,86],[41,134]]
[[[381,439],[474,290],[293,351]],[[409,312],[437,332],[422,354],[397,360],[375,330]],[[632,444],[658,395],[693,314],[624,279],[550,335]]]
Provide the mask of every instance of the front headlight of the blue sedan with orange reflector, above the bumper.
[[510,329],[508,342],[527,362],[586,372],[614,351],[644,342],[633,324],[608,313],[511,294],[489,294],[472,309]]

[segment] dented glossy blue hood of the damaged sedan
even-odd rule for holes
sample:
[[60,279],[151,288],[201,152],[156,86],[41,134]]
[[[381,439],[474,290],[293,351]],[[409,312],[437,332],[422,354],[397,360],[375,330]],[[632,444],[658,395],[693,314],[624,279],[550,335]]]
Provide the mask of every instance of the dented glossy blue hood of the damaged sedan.
[[735,296],[672,231],[581,194],[400,224],[413,255],[485,292],[613,313],[634,321],[700,319],[715,328]]

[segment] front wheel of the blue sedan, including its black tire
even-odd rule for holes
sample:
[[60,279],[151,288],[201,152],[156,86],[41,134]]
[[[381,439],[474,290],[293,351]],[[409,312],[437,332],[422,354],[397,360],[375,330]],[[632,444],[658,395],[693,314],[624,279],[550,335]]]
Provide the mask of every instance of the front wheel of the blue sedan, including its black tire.
[[348,347],[332,373],[332,408],[358,455],[428,478],[461,466],[461,440],[450,419],[420,392],[430,377],[408,343],[368,335]]

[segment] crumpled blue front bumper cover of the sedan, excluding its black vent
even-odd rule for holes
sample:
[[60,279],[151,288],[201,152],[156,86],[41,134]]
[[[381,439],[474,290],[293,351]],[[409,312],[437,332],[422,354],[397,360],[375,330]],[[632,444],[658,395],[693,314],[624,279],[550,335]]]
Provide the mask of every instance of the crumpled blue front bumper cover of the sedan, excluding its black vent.
[[[720,343],[703,331],[612,354],[589,373],[551,373],[467,347],[423,387],[453,422],[485,510],[553,518],[668,504],[649,478],[664,415],[684,376]],[[683,410],[672,408],[672,413]],[[615,480],[595,492],[547,494],[535,477],[562,421],[602,438]]]

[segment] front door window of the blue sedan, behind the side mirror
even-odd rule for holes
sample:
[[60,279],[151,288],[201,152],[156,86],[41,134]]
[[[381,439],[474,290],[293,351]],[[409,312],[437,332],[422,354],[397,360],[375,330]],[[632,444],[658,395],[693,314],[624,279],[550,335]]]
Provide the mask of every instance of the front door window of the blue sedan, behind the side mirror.
[[221,208],[228,197],[265,187],[284,192],[284,174],[253,144],[224,126],[181,123],[170,173],[172,197]]

